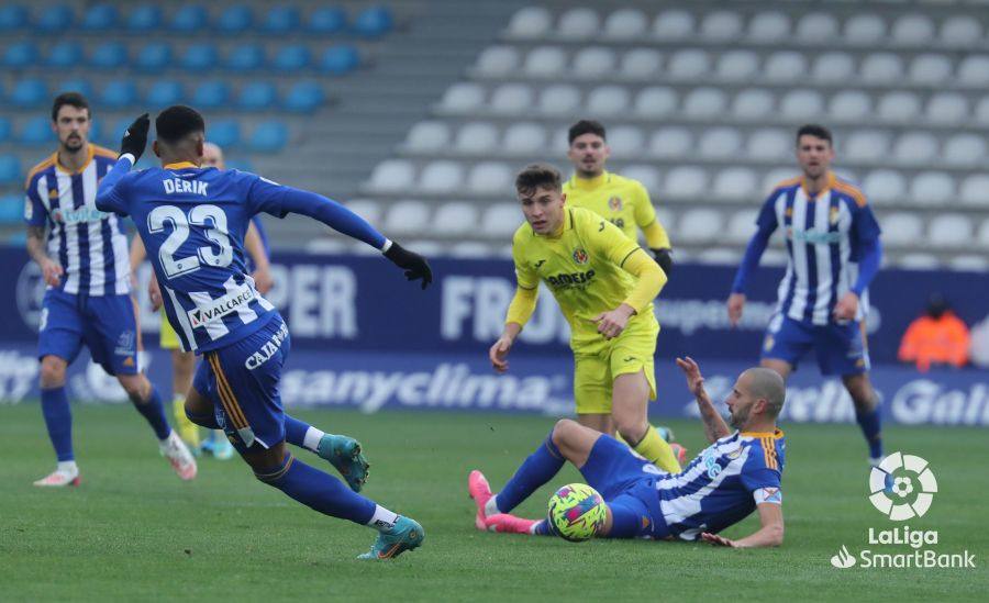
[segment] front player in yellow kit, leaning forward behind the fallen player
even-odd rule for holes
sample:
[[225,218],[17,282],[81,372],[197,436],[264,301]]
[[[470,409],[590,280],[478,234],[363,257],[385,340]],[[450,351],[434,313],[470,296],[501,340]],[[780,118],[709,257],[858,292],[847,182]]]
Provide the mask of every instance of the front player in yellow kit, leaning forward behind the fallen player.
[[580,208],[565,206],[559,172],[532,165],[515,178],[525,223],[512,257],[518,287],[501,337],[488,351],[498,372],[536,305],[542,280],[570,324],[574,397],[578,420],[598,431],[613,418],[618,433],[663,469],[680,469],[669,444],[648,422],[656,398],[653,355],[659,323],[653,300],[666,283],[663,269],[618,226]]

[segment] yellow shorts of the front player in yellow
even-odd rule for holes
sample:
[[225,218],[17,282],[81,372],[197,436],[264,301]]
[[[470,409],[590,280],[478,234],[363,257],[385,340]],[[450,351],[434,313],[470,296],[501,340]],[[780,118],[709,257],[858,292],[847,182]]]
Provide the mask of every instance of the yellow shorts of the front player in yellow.
[[[652,316],[649,316],[652,317]],[[619,375],[645,372],[649,382],[649,400],[656,399],[656,337],[659,323],[655,319],[630,321],[614,339],[582,345],[574,350],[574,400],[577,414],[611,414],[612,384]]]

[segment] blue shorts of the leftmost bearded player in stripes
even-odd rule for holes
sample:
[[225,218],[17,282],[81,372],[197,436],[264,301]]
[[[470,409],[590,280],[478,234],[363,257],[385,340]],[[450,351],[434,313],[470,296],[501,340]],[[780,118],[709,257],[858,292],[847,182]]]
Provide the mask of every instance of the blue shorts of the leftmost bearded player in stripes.
[[110,375],[136,375],[137,331],[130,295],[86,295],[48,289],[42,300],[37,357],[57,356],[71,364],[82,344]]

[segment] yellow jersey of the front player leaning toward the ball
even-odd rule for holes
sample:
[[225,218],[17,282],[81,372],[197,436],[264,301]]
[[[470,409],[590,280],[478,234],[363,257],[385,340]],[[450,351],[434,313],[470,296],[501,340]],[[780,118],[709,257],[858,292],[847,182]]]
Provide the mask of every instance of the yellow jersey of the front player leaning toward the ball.
[[[546,283],[570,323],[574,349],[602,342],[592,320],[621,305],[635,288],[638,279],[622,268],[635,253],[645,252],[618,226],[581,208],[564,209],[559,236],[536,235],[526,222],[512,238],[519,287]],[[629,321],[655,322],[652,302]]]

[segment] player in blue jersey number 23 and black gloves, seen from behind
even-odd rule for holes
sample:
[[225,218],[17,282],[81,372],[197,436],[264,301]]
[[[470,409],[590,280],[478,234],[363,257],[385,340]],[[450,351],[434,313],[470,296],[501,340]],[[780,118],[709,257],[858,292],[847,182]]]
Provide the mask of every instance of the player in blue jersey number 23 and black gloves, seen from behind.
[[324,197],[253,174],[202,168],[205,123],[188,107],[170,107],[155,120],[154,150],[162,167],[132,172],[148,125],[146,113],[131,124],[120,159],[100,185],[97,206],[134,220],[168,321],[182,348],[204,358],[186,414],[198,425],[223,429],[257,479],[323,514],[378,529],[360,558],[387,559],[419,547],[424,536],[419,523],[352,492],[286,449],[288,442],[318,451],[329,442],[351,488],[363,483],[357,478],[366,464],[354,439],[320,435],[282,410],[278,384],[290,337],[246,273],[243,239],[256,213],[292,212],[380,249],[407,278],[422,279],[423,289],[432,282],[429,265]]

